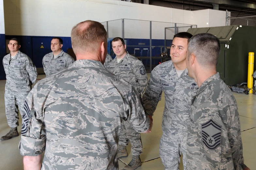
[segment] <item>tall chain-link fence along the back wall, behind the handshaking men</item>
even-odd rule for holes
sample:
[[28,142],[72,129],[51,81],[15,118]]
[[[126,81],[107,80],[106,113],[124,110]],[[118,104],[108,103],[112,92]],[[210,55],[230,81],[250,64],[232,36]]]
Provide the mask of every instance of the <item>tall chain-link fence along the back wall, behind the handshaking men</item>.
[[120,19],[102,22],[108,35],[108,52],[115,56],[112,50],[112,39],[121,37],[129,54],[142,61],[147,71],[170,58],[170,46],[173,36],[186,32],[197,25]]

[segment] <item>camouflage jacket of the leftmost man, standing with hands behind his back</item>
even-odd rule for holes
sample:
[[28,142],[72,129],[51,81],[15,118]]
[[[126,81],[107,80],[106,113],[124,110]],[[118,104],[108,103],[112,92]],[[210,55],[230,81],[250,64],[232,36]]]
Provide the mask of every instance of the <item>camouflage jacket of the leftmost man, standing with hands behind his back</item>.
[[37,80],[37,68],[31,59],[21,51],[11,59],[4,56],[3,65],[6,74],[6,92],[29,92]]

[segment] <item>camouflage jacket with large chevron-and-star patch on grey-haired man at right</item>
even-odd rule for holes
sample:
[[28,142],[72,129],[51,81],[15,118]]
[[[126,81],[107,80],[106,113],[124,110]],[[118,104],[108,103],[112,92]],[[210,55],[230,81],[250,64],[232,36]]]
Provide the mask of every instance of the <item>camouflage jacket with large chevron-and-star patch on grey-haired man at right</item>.
[[187,169],[246,168],[237,103],[219,73],[202,83],[193,97],[191,109]]

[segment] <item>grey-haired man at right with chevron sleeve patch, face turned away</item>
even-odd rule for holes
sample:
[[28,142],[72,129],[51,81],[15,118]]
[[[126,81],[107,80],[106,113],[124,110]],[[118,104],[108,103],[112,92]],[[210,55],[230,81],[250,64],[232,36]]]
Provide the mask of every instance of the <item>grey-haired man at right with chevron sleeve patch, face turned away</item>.
[[220,42],[202,33],[189,40],[187,69],[199,90],[192,100],[187,134],[188,170],[242,170],[244,164],[237,103],[216,72]]

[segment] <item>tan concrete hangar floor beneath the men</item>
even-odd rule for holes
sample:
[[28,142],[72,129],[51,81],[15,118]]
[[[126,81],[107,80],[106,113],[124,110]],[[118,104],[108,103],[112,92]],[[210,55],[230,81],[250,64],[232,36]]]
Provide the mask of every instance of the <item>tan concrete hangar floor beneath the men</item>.
[[[150,74],[148,74],[149,76]],[[38,79],[44,78],[45,75],[39,75]],[[4,92],[5,80],[0,81],[0,136],[6,135],[10,128],[7,124],[5,115]],[[241,121],[242,140],[244,148],[245,164],[251,169],[256,170],[256,95],[233,92],[237,104]],[[164,94],[162,101],[158,103],[153,116],[153,128],[150,134],[141,134],[143,153],[141,154],[142,166],[137,170],[163,170],[164,166],[159,157],[159,142],[162,135],[162,116],[164,111]],[[21,118],[21,116],[20,116]],[[21,133],[21,119],[18,126],[19,134]],[[18,144],[20,136],[8,141],[0,142],[0,170],[23,170],[23,157],[20,155]],[[119,168],[122,169],[131,159],[131,145],[127,147],[129,156],[119,161]],[[183,165],[180,164],[180,170]]]

